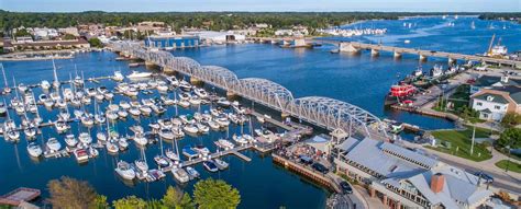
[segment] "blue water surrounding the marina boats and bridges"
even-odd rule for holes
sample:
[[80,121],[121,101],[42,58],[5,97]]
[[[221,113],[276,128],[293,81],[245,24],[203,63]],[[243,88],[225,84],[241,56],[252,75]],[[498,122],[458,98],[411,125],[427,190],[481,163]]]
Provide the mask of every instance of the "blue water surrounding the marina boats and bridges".
[[[521,49],[519,40],[521,27],[516,24],[505,23],[509,28],[502,30],[503,22],[479,21],[477,19],[459,18],[452,20],[454,27],[447,27],[451,20],[442,19],[411,19],[403,21],[370,21],[363,23],[363,26],[387,27],[389,32],[385,36],[355,37],[353,39],[362,42],[380,42],[384,44],[402,46],[404,39],[410,39],[411,47],[432,48],[434,50],[458,51],[466,54],[483,53],[487,49],[489,39],[494,33],[502,37],[510,51]],[[476,22],[476,30],[470,30],[470,22]],[[404,28],[403,22],[417,23],[414,28]],[[494,23],[495,30],[488,30],[488,25]],[[358,25],[351,25],[352,27]],[[463,44],[462,44],[463,43]],[[412,72],[418,66],[418,59],[412,56],[403,56],[401,60],[395,60],[390,54],[383,53],[378,58],[372,58],[368,53],[361,56],[348,56],[342,54],[330,54],[333,46],[323,46],[317,49],[282,49],[271,45],[233,45],[233,46],[212,46],[200,49],[176,50],[176,56],[191,57],[202,65],[215,65],[225,67],[234,71],[239,78],[265,78],[275,81],[293,93],[293,96],[328,96],[345,101],[361,106],[370,113],[380,117],[390,117],[408,123],[418,124],[421,127],[435,129],[448,128],[454,125],[447,120],[432,117],[424,117],[403,112],[393,112],[384,109],[384,96],[389,85],[397,82],[400,78]],[[75,73],[75,63],[77,69],[84,71],[85,77],[100,77],[112,74],[114,70],[121,69],[124,73],[130,73],[126,62],[114,61],[115,55],[111,53],[91,53],[80,54],[71,60],[56,60],[59,67],[59,79],[69,78],[68,72]],[[443,59],[430,59],[422,63],[423,69],[430,69],[434,63],[446,63]],[[3,62],[8,78],[14,76],[18,83],[37,83],[43,79],[53,80],[51,61],[24,61],[24,62]],[[144,68],[138,68],[144,70]],[[109,89],[113,88],[113,82],[103,81],[102,85]],[[90,83],[88,86],[96,86]],[[37,96],[40,90],[35,91]],[[156,95],[149,95],[156,96]],[[146,96],[148,97],[148,96]],[[171,97],[171,93],[170,93]],[[117,95],[115,101],[121,100]],[[102,107],[108,103],[101,104]],[[89,107],[92,108],[92,105]],[[207,109],[208,107],[202,107]],[[191,113],[196,109],[181,109],[180,114]],[[44,120],[55,118],[57,111],[48,113],[43,107],[40,113]],[[175,109],[169,107],[167,116],[174,115]],[[15,115],[15,114],[11,114]],[[18,119],[18,116],[14,116]],[[143,126],[151,120],[157,119],[157,116],[140,120]],[[126,127],[137,120],[129,117],[126,121],[118,124],[118,130],[121,133],[130,131]],[[258,125],[255,125],[256,127]],[[102,129],[104,127],[93,127],[90,131]],[[240,127],[232,127],[230,135],[239,132]],[[76,125],[71,130],[77,131]],[[247,132],[248,127],[244,127]],[[82,131],[87,131],[82,128]],[[186,137],[179,141],[179,147],[187,144],[203,143],[214,150],[211,140],[225,136],[226,132],[212,131],[203,137]],[[88,164],[78,165],[74,158],[48,159],[40,162],[33,161],[26,152],[26,142],[21,135],[21,141],[18,144],[0,142],[0,194],[4,194],[19,186],[41,188],[47,196],[45,189],[49,179],[58,178],[63,175],[88,181],[96,189],[109,197],[109,200],[121,198],[126,195],[136,195],[143,198],[160,198],[168,185],[177,185],[171,176],[167,174],[165,181],[135,185],[125,185],[113,172],[118,160],[133,162],[140,158],[140,151],[132,141],[126,152],[112,156],[106,151],[100,151],[100,156],[89,161]],[[58,136],[54,128],[46,128],[42,136],[44,139],[57,137],[63,146],[63,138]],[[42,143],[42,139],[37,141]],[[165,148],[171,148],[171,143],[164,143]],[[158,154],[159,146],[151,146],[146,149],[148,164],[154,165],[153,156]],[[302,179],[284,169],[271,163],[269,156],[260,156],[253,151],[245,152],[253,159],[246,163],[235,156],[224,158],[230,162],[229,170],[215,174],[206,172],[202,166],[196,169],[202,174],[202,177],[213,177],[226,181],[236,187],[242,197],[241,208],[278,208],[286,206],[288,208],[321,208],[329,193],[314,184]],[[185,190],[191,191],[192,183],[181,186]]]

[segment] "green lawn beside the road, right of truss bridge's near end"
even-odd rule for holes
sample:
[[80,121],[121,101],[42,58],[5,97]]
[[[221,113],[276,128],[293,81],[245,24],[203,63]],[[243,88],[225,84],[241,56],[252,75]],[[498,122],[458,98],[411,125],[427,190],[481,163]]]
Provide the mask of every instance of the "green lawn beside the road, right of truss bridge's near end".
[[[476,138],[486,138],[489,136],[489,133],[490,131],[487,129],[476,128]],[[489,152],[489,149],[479,143],[474,143],[474,154],[470,155],[470,143],[473,136],[472,128],[468,128],[466,130],[433,131],[432,136],[437,139],[437,147],[425,146],[429,149],[437,150],[440,152],[448,153],[476,162],[485,161],[492,158]],[[450,147],[446,146],[447,142],[451,143]]]

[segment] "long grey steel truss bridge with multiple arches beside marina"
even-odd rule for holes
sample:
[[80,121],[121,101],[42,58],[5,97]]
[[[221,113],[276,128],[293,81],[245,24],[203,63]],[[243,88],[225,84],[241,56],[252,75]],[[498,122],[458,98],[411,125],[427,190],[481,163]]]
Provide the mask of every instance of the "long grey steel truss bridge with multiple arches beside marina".
[[388,139],[386,126],[378,117],[346,102],[320,96],[295,98],[288,89],[273,81],[259,78],[239,79],[226,68],[201,66],[191,58],[146,49],[135,43],[114,43],[112,50],[157,65],[163,70],[180,72],[328,130],[342,129],[350,136],[362,133],[374,139]]

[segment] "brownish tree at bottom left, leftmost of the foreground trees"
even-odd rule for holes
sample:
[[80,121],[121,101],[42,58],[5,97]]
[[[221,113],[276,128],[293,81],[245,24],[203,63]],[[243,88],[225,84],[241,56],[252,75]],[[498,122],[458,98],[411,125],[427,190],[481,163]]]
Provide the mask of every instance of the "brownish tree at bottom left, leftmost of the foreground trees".
[[53,208],[87,209],[98,206],[98,194],[87,182],[64,176],[49,181],[47,188]]

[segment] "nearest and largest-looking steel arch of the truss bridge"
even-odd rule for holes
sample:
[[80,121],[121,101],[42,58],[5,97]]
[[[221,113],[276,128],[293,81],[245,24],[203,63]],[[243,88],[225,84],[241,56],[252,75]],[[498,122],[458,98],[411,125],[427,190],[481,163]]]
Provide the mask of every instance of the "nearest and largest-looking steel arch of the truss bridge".
[[330,97],[308,96],[295,100],[291,114],[329,130],[362,131],[368,137],[384,135],[384,123],[369,112]]

